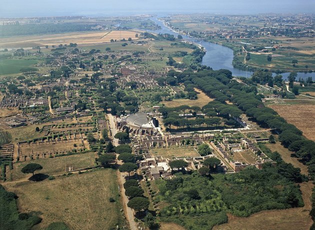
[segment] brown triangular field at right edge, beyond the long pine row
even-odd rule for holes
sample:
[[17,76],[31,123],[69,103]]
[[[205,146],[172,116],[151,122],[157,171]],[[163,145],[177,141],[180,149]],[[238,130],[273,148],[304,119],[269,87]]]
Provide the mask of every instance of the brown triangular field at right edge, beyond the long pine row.
[[309,140],[315,141],[315,103],[269,105],[288,123],[295,125]]

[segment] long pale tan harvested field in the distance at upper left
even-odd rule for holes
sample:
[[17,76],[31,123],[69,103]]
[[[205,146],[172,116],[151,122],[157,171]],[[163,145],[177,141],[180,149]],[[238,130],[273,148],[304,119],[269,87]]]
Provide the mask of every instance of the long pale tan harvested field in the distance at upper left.
[[76,43],[82,44],[97,44],[109,42],[110,39],[126,40],[135,37],[137,30],[114,30],[114,31],[100,31],[100,32],[72,32],[72,33],[59,33],[49,35],[32,35],[32,36],[16,36],[10,38],[1,38],[0,47],[32,47],[34,45],[59,45]]

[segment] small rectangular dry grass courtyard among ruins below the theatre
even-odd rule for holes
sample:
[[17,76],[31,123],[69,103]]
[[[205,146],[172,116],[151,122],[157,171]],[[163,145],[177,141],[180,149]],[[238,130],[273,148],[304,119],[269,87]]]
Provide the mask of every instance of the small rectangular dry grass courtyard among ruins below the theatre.
[[174,145],[169,148],[151,149],[150,152],[154,156],[162,156],[163,158],[169,159],[172,157],[199,157],[199,154],[192,146],[177,147]]

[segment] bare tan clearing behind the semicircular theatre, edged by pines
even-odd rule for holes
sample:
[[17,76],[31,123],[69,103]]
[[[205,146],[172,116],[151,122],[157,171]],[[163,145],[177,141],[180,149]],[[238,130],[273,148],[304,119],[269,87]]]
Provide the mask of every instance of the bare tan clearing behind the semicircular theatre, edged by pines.
[[175,99],[172,101],[162,101],[163,104],[165,104],[166,107],[177,107],[180,105],[188,105],[188,106],[199,106],[202,107],[209,103],[210,101],[213,101],[214,99],[209,98],[205,93],[203,93],[199,89],[194,89],[197,92],[198,99],[196,100],[189,100],[189,99]]

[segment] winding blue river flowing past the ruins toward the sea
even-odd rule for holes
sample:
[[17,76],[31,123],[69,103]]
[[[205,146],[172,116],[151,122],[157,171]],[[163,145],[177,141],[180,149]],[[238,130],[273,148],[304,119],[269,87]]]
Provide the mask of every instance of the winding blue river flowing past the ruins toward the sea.
[[[150,18],[152,21],[154,21],[157,25],[161,27],[161,29],[157,30],[146,30],[148,32],[152,33],[169,33],[177,37],[179,33],[169,29],[166,27],[162,21],[158,20],[156,17]],[[141,29],[143,30],[143,29]],[[206,50],[205,55],[202,58],[201,64],[211,67],[214,70],[218,69],[228,69],[232,72],[233,76],[238,77],[250,77],[250,75],[253,73],[251,71],[241,70],[238,68],[234,68],[232,66],[232,60],[233,60],[233,50],[225,47],[223,45],[215,44],[208,41],[200,41],[198,39],[189,37],[187,35],[180,34],[183,39],[187,39],[191,42],[194,42],[196,44],[202,45],[204,49]],[[287,79],[287,76],[290,73],[281,73],[284,80]],[[272,73],[273,76],[275,76],[275,73]],[[306,79],[307,77],[312,77],[312,79],[315,79],[315,72],[312,73],[303,73],[298,72],[297,73],[297,79],[301,77],[302,79]]]

